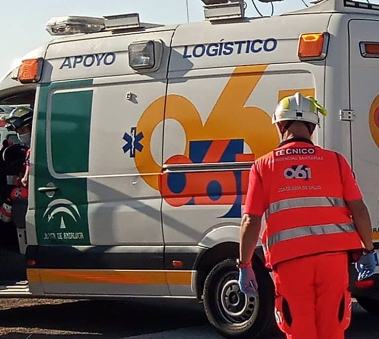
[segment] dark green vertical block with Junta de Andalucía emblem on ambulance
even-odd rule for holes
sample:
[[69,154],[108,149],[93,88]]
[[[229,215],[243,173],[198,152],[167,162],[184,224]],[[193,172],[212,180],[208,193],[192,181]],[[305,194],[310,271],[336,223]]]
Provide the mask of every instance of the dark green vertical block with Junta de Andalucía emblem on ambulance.
[[[77,177],[89,170],[93,99],[89,85],[92,81],[40,87],[35,167],[38,244],[90,244],[87,179]],[[38,192],[49,185],[58,188],[54,196]]]

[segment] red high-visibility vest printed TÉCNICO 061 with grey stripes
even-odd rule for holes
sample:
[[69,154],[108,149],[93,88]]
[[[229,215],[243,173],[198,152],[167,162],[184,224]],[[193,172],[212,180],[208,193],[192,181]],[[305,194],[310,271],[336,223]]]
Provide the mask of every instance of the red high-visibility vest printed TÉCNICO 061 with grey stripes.
[[264,185],[269,190],[263,237],[268,267],[305,255],[362,248],[343,199],[341,155],[292,143],[259,159],[256,167],[260,179],[271,178]]

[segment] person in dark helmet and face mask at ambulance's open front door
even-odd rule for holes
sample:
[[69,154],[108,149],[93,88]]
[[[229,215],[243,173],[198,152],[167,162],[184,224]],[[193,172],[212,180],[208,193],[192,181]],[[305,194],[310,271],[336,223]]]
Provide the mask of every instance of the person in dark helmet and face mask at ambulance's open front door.
[[[5,163],[17,164],[23,161],[23,166],[19,170],[18,175],[12,183],[14,187],[5,202],[0,207],[0,219],[4,222],[12,220],[12,202],[19,198],[28,198],[28,180],[30,173],[30,141],[32,132],[33,109],[29,107],[16,107],[12,110],[9,117],[6,119],[6,128],[11,131],[16,131],[18,139],[26,147],[25,160],[23,157],[23,149],[17,146],[7,146],[2,151],[3,160]],[[17,166],[12,166],[17,168]]]

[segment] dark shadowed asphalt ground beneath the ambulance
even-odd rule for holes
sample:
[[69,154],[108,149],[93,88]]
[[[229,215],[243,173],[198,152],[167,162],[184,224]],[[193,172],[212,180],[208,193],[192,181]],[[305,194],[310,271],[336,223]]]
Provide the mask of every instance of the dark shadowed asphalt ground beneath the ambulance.
[[[0,300],[1,305],[1,300]],[[207,324],[201,305],[186,301],[10,303],[0,309],[3,339],[221,339]],[[280,333],[270,339],[283,339]],[[346,339],[378,339],[379,316],[353,305]]]

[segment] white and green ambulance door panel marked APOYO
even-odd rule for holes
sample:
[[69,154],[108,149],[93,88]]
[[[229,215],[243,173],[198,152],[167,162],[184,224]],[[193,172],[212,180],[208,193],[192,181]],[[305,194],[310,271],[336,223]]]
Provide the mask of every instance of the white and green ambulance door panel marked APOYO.
[[[161,196],[152,188],[162,159],[162,130],[138,121],[164,98],[173,31],[58,42],[46,53],[38,97],[35,166],[37,265],[28,270],[46,295],[168,295]],[[154,73],[129,67],[132,42],[159,39]],[[164,100],[153,105],[163,119]],[[160,117],[160,118],[159,118]],[[147,140],[158,166],[142,159]],[[41,192],[54,186],[56,191]],[[38,190],[39,189],[39,190]],[[34,252],[34,253],[33,253]]]

